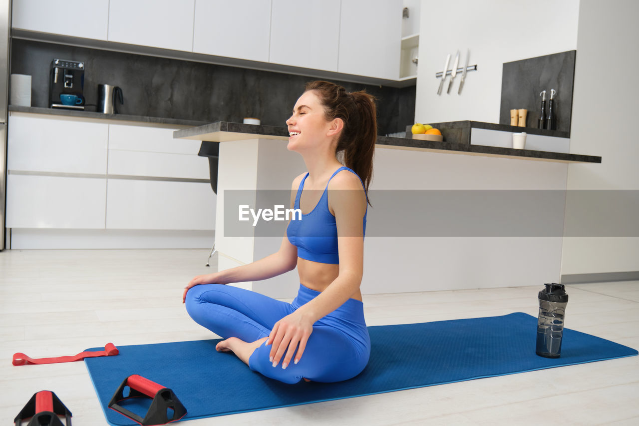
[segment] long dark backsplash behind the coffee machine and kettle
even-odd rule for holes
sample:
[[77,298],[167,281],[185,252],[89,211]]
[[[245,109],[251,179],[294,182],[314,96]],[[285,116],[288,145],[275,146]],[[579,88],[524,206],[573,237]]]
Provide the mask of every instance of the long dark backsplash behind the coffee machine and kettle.
[[[284,126],[291,109],[314,78],[227,67],[179,59],[12,40],[11,72],[32,76],[31,106],[48,107],[49,69],[54,58],[84,61],[84,97],[97,102],[98,84],[122,88],[121,114],[201,122],[242,122]],[[401,132],[415,116],[415,86],[389,88],[334,81],[346,90],[365,89],[377,97],[378,134]],[[95,106],[86,107],[95,111]]]

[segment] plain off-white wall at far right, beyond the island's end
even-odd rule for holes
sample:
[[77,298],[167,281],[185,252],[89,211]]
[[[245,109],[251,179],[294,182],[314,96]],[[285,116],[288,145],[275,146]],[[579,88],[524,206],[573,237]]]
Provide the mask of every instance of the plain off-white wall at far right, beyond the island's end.
[[[602,162],[569,165],[568,189],[639,189],[638,16],[636,0],[581,0],[571,152]],[[611,79],[611,67],[625,71]],[[562,274],[623,271],[639,271],[639,238],[564,238]]]

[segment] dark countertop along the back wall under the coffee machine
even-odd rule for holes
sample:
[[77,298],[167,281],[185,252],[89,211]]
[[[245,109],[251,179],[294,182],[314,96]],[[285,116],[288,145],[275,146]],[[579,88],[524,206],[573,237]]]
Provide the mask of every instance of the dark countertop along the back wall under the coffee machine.
[[[88,118],[98,120],[109,120],[112,122],[134,122],[147,125],[175,125],[178,127],[184,126],[200,126],[205,123],[196,122],[194,120],[180,120],[176,118],[162,118],[162,117],[147,117],[139,115],[127,115],[127,114],[103,114],[96,113],[95,111],[77,111],[74,109],[60,109],[60,108],[42,108],[42,107],[26,107],[10,105],[9,112],[13,113],[31,113],[31,114],[46,114],[52,116],[72,117],[72,118]],[[123,123],[124,124],[124,123]]]

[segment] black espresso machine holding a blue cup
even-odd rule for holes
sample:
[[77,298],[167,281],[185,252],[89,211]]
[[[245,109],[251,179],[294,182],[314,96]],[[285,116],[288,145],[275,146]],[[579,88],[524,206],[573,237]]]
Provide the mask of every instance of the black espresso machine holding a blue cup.
[[49,78],[49,107],[84,109],[84,62],[53,59]]

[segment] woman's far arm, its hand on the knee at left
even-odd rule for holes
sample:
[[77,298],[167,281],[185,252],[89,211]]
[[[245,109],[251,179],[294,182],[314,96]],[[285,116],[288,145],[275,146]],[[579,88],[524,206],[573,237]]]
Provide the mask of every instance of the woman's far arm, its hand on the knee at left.
[[[297,186],[300,184],[302,177],[300,175],[293,180],[291,186],[291,209],[295,206],[295,195]],[[198,275],[189,281],[185,287],[182,301],[185,300],[189,288],[199,284],[229,284],[240,283],[243,281],[260,281],[284,274],[284,272],[295,269],[297,265],[297,248],[288,241],[286,233],[282,238],[282,244],[278,251],[265,258],[256,260],[247,265],[238,266],[224,271],[213,272],[212,274]]]

